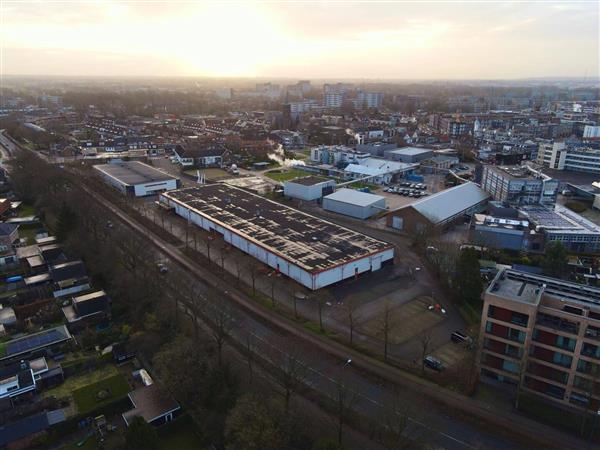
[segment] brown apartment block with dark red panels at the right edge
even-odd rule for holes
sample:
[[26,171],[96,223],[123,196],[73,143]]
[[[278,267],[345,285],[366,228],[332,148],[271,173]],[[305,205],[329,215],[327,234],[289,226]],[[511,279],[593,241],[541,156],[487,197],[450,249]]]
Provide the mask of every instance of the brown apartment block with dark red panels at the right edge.
[[480,336],[483,381],[600,405],[600,288],[505,269],[484,294]]

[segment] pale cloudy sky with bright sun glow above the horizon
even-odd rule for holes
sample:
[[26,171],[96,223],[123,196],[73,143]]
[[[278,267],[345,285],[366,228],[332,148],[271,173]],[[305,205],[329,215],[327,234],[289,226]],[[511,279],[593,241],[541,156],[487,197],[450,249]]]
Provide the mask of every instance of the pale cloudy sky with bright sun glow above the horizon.
[[0,0],[5,75],[598,77],[592,1]]

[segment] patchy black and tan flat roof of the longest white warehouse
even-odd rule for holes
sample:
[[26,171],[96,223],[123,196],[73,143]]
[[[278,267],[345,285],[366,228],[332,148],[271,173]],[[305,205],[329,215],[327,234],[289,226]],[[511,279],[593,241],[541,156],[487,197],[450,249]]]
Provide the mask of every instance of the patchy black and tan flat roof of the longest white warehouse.
[[226,184],[206,184],[161,194],[302,269],[318,273],[393,248]]

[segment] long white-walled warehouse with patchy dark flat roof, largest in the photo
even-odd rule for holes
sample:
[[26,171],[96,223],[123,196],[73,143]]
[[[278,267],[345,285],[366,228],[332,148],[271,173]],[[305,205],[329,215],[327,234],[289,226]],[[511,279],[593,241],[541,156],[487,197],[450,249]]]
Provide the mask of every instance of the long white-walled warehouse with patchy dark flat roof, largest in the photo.
[[394,259],[394,246],[225,184],[160,195],[164,205],[309,289]]

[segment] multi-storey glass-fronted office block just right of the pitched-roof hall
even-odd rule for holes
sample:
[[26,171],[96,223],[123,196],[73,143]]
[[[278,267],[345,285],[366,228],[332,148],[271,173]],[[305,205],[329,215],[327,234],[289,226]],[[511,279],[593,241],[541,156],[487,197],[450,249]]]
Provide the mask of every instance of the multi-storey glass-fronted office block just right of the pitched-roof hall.
[[481,187],[510,206],[553,205],[559,181],[529,166],[484,166]]

